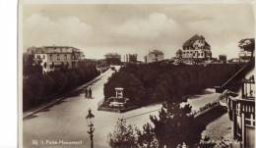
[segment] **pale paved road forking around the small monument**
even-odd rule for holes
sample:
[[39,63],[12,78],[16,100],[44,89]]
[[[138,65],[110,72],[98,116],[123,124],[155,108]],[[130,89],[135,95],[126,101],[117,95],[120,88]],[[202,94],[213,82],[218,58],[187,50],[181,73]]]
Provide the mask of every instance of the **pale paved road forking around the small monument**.
[[[113,72],[108,70],[99,80],[92,84],[94,99],[85,99],[85,94],[79,92],[77,95],[67,97],[58,104],[36,113],[30,119],[25,119],[24,127],[24,148],[87,148],[90,147],[90,139],[87,133],[88,126],[85,120],[88,110],[91,108],[95,114],[95,147],[106,148],[107,135],[113,130],[114,124],[119,118],[129,118],[142,113],[160,109],[160,104],[143,107],[127,113],[110,113],[97,111],[97,102],[103,99],[103,84]],[[205,104],[217,99],[217,94],[208,92],[205,95],[197,96],[206,98]],[[197,109],[202,105],[202,99],[198,103],[194,101],[193,108]],[[149,115],[158,115],[158,112],[144,114],[127,119],[127,123],[136,124],[138,127],[149,122]],[[55,144],[58,141],[73,142]],[[36,145],[36,141],[38,145]],[[35,142],[35,143],[32,143]],[[43,142],[43,144],[41,143]]]

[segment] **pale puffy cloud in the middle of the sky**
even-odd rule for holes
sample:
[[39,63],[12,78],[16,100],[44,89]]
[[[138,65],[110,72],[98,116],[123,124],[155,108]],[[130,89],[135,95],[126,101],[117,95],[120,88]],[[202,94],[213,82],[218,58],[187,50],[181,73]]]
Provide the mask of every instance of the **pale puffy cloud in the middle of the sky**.
[[175,21],[161,13],[152,13],[146,19],[132,18],[118,25],[115,33],[138,39],[156,39],[164,33],[173,33],[179,29]]

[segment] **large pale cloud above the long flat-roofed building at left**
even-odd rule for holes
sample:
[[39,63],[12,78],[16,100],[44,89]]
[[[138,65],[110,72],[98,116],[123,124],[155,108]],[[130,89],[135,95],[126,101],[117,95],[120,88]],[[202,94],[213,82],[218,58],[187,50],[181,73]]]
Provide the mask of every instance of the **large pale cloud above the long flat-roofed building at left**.
[[53,21],[47,16],[33,14],[25,20],[23,32],[25,43],[29,41],[35,46],[82,46],[81,43],[92,33],[92,26],[77,17],[68,16]]

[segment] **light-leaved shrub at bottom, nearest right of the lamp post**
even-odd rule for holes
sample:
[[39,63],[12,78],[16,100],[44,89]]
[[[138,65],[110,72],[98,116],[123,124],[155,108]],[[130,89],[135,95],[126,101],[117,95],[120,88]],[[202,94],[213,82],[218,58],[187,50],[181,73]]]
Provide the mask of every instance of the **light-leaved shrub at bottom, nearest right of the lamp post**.
[[108,143],[112,148],[138,148],[135,127],[119,119],[112,133],[108,134]]

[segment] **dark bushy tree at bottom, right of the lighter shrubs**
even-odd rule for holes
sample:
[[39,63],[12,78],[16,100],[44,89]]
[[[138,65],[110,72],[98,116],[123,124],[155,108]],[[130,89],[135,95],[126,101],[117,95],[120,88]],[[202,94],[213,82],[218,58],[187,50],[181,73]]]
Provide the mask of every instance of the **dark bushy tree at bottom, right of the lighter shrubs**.
[[179,103],[169,103],[162,106],[159,118],[150,117],[160,148],[164,145],[176,147],[183,142],[192,145],[200,139],[203,128],[190,113],[190,105],[180,107]]

